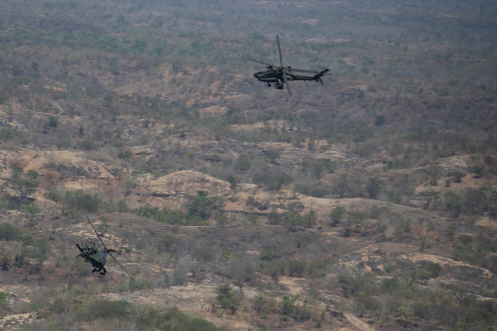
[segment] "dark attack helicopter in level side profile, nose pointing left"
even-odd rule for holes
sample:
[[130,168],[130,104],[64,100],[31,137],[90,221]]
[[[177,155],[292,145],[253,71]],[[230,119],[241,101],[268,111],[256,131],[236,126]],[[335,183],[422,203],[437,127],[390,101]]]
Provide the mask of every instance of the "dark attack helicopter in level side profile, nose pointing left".
[[[330,68],[324,68],[321,71],[314,71],[314,70],[292,68],[291,66],[283,66],[283,57],[281,56],[281,45],[279,41],[279,35],[276,35],[276,41],[278,42],[278,53],[280,58],[279,66],[275,66],[254,59],[248,59],[249,61],[260,63],[266,66],[265,70],[255,72],[253,74],[255,78],[257,78],[262,82],[267,83],[267,86],[269,87],[271,86],[271,83],[275,83],[274,88],[278,90],[282,90],[285,87],[285,83],[287,81],[294,81],[294,80],[315,81],[323,85],[323,80],[321,80],[321,77],[327,75],[328,71],[330,71]],[[306,75],[297,74],[296,72],[314,73],[314,75],[306,76]],[[287,85],[287,90],[290,96],[292,96],[290,85]]]

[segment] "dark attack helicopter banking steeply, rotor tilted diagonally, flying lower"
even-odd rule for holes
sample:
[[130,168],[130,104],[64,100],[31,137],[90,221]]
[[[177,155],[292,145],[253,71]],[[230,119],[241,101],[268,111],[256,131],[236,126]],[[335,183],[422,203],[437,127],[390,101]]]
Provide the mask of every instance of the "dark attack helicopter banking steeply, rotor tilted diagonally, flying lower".
[[[80,256],[84,258],[84,262],[89,262],[93,266],[93,270],[91,272],[98,272],[100,275],[104,276],[107,273],[107,269],[105,269],[105,263],[107,262],[107,255],[109,255],[117,265],[121,267],[121,269],[126,272],[126,274],[136,283],[138,282],[133,278],[133,276],[122,266],[116,258],[110,253],[110,252],[117,252],[116,250],[109,250],[106,246],[105,243],[103,242],[102,238],[96,231],[95,227],[93,226],[93,223],[91,223],[88,215],[83,211],[84,216],[88,220],[88,223],[90,223],[91,228],[93,231],[95,231],[95,234],[102,243],[99,247],[95,247],[94,245],[87,246],[85,248],[82,248],[80,245],[76,244],[76,247],[80,250],[80,254],[76,257],[79,258]],[[100,249],[102,247],[102,249]]]

